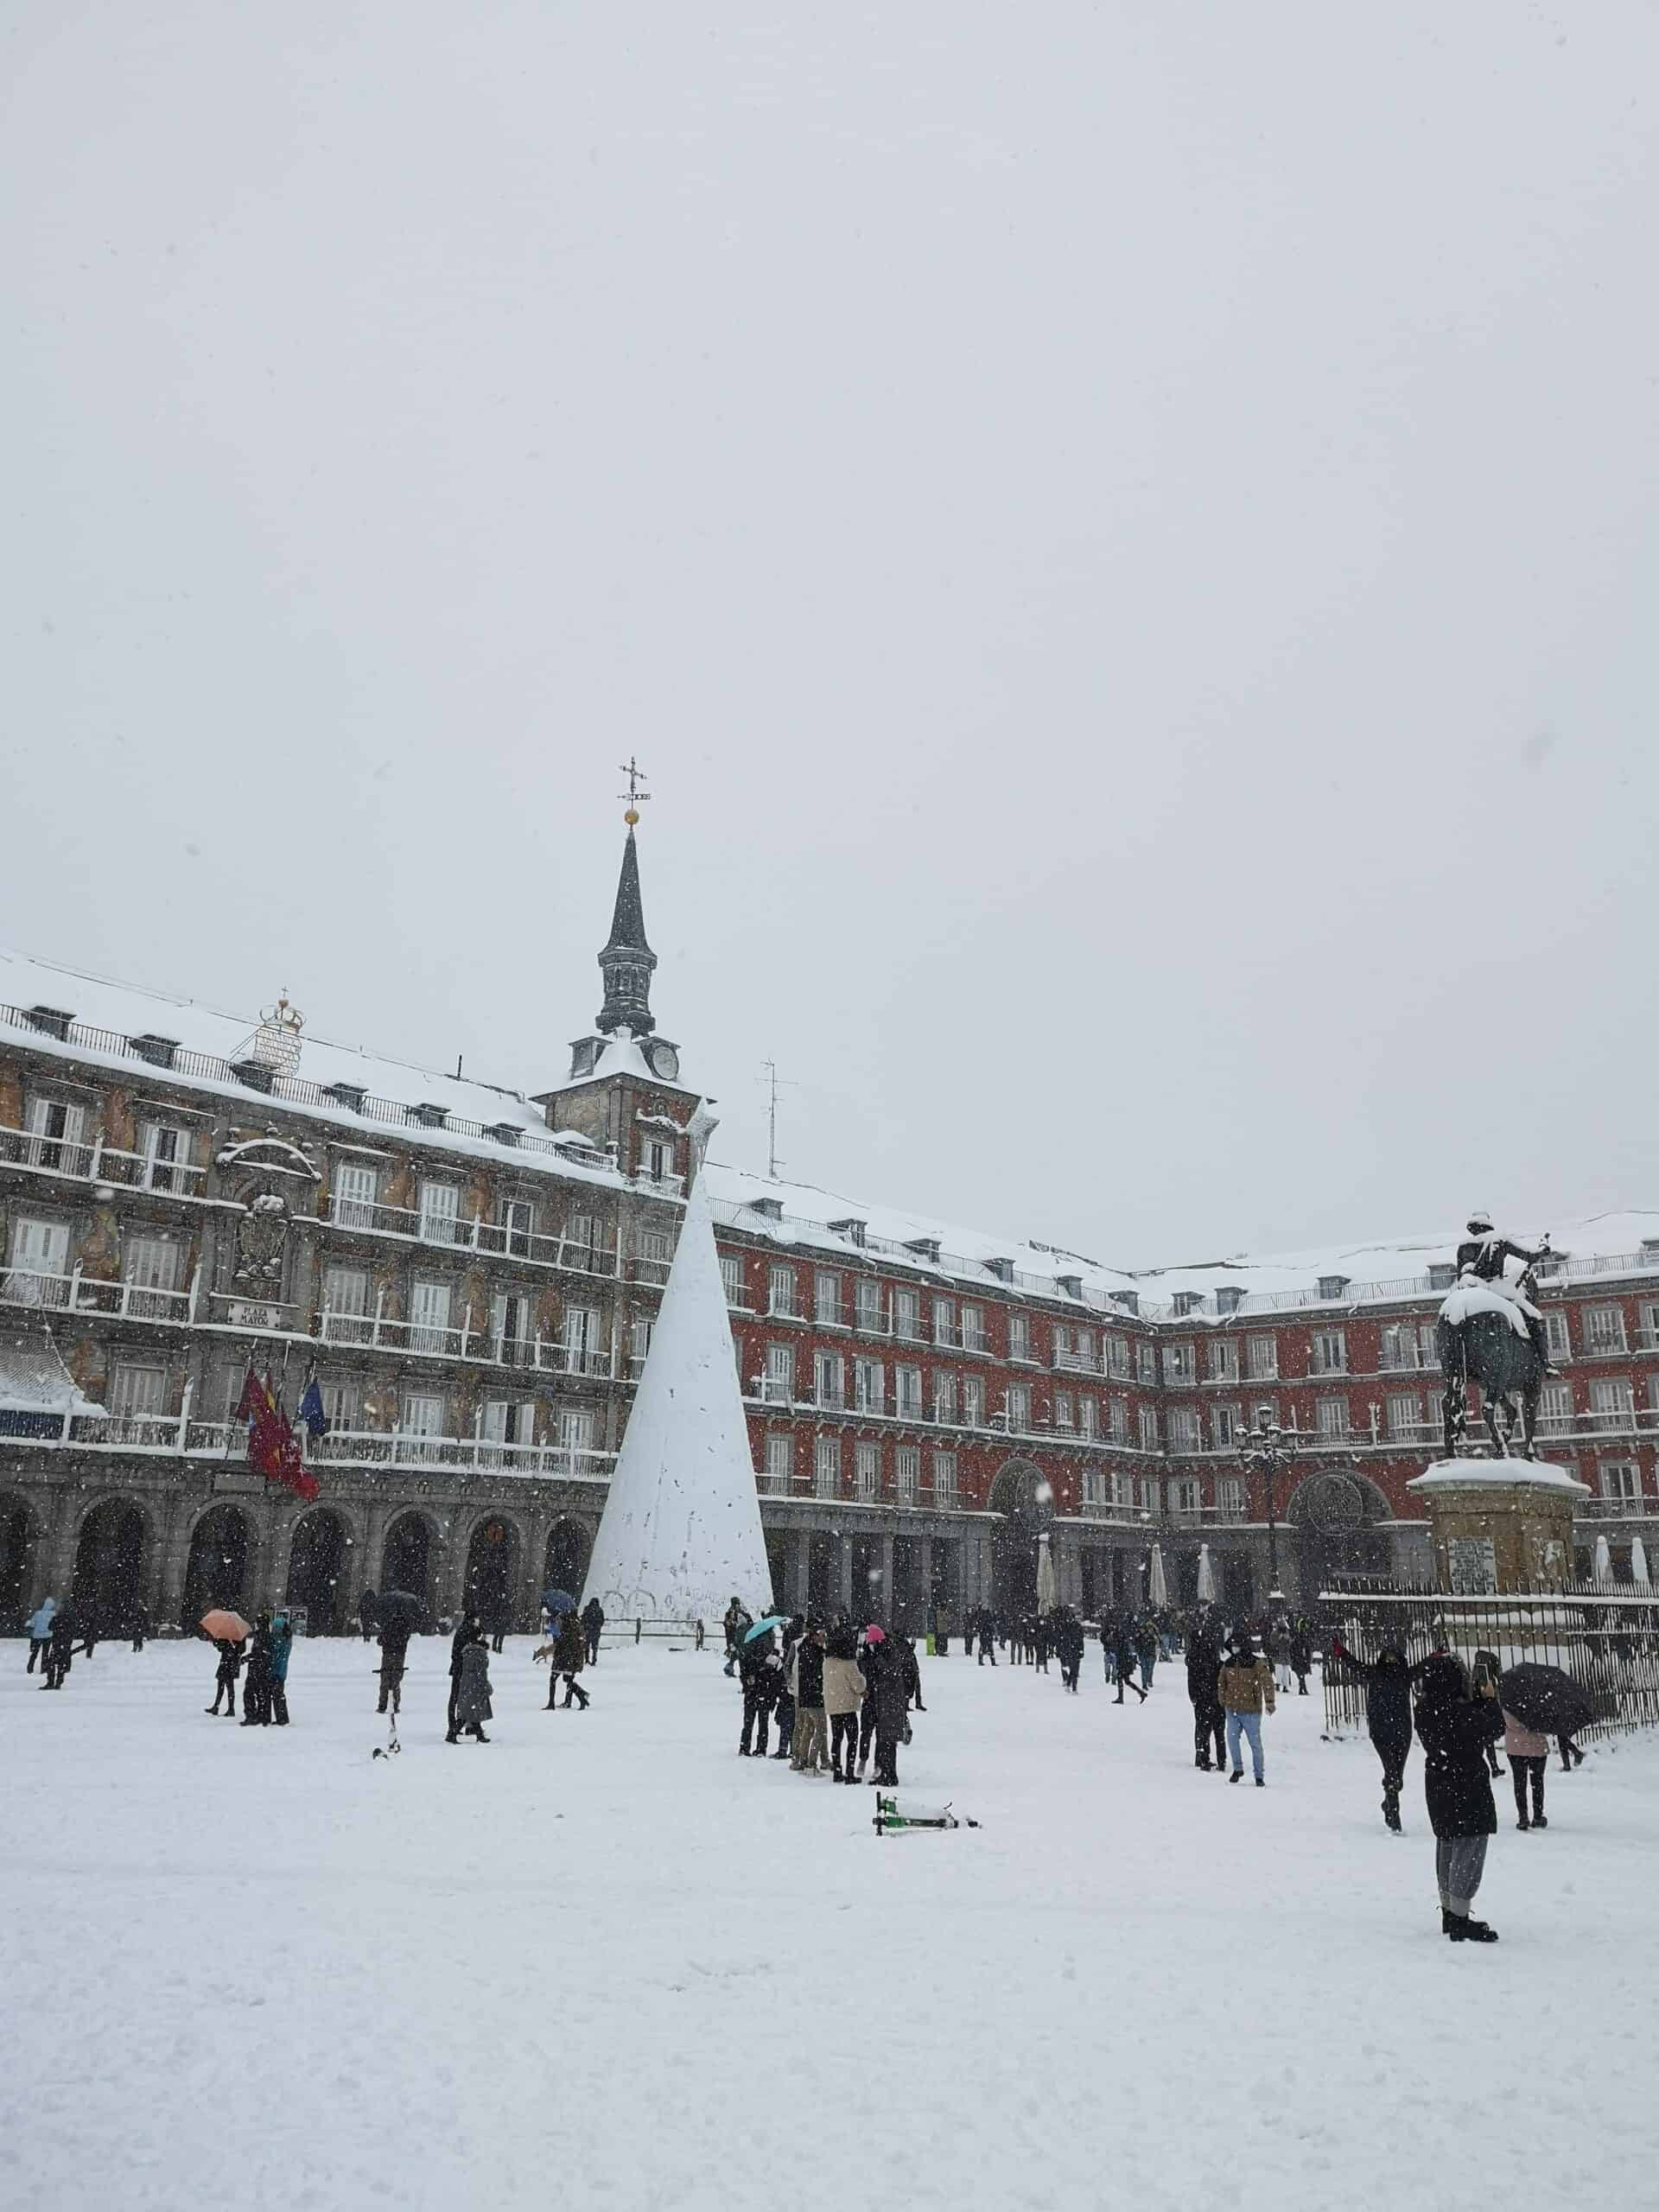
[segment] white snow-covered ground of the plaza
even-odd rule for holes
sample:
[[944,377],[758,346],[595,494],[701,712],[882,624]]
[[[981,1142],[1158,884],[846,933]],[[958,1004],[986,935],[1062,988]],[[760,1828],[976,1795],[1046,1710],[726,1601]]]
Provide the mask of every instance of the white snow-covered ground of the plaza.
[[104,1646],[49,1697],[0,1646],[0,2205],[1650,2203],[1659,1756],[1509,1783],[1440,1936],[1318,1699],[1270,1787],[1192,1767],[1179,1666],[1117,1708],[925,1663],[905,1790],[739,1761],[719,1657],[606,1648],[593,1710],[493,1661],[447,1747],[414,1646],[296,1646],[294,1725],[204,1717],[212,1655]]

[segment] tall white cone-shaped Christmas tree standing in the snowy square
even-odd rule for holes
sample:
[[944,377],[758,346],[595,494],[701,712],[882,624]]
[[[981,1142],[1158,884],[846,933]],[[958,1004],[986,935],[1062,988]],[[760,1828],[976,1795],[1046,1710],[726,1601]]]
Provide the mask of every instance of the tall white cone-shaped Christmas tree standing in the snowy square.
[[619,1619],[717,1621],[772,1606],[732,1325],[699,1175],[588,1559],[584,1601]]

